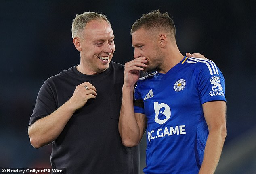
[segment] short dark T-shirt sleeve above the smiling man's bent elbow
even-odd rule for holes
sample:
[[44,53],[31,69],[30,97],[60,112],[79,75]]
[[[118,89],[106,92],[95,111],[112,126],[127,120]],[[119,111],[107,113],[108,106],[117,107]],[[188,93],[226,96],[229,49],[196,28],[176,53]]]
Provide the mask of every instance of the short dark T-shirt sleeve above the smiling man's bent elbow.
[[46,81],[38,92],[35,108],[29,120],[29,126],[36,122],[38,119],[51,114],[56,109],[56,100],[53,95],[52,88]]

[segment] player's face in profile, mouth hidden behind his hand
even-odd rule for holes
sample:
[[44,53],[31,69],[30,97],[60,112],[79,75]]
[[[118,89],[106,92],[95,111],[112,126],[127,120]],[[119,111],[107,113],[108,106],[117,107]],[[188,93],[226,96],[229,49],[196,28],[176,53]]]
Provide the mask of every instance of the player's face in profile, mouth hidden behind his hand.
[[160,51],[157,35],[147,33],[144,29],[138,29],[132,33],[132,46],[134,47],[134,59],[146,57],[147,67],[144,72],[161,69],[163,54]]

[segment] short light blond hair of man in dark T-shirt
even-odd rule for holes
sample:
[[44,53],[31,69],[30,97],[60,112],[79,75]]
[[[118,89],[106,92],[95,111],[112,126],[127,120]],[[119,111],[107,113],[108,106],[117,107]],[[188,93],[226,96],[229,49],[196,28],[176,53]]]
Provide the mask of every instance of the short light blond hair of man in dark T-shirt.
[[104,14],[95,12],[84,12],[82,14],[77,14],[72,23],[72,38],[82,37],[82,31],[84,30],[84,27],[88,22],[92,20],[105,20],[111,26],[111,23],[109,20],[107,20],[107,17]]

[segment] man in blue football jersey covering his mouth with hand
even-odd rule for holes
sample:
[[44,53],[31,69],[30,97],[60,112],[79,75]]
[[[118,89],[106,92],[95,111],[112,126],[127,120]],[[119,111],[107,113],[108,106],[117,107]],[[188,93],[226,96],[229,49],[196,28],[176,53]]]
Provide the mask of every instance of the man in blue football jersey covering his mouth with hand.
[[[133,147],[147,133],[145,174],[213,174],[226,137],[224,78],[214,62],[183,56],[175,30],[159,10],[132,25],[134,60],[125,64],[119,119],[122,143]],[[157,71],[139,79],[141,70]]]

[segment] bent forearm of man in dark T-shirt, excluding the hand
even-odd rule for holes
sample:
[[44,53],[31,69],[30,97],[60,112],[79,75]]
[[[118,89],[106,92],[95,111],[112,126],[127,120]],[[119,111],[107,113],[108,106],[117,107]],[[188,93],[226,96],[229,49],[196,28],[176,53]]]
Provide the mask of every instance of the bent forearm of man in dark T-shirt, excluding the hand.
[[39,148],[54,141],[74,112],[75,110],[70,107],[69,102],[66,102],[50,115],[33,123],[28,129],[31,145]]

